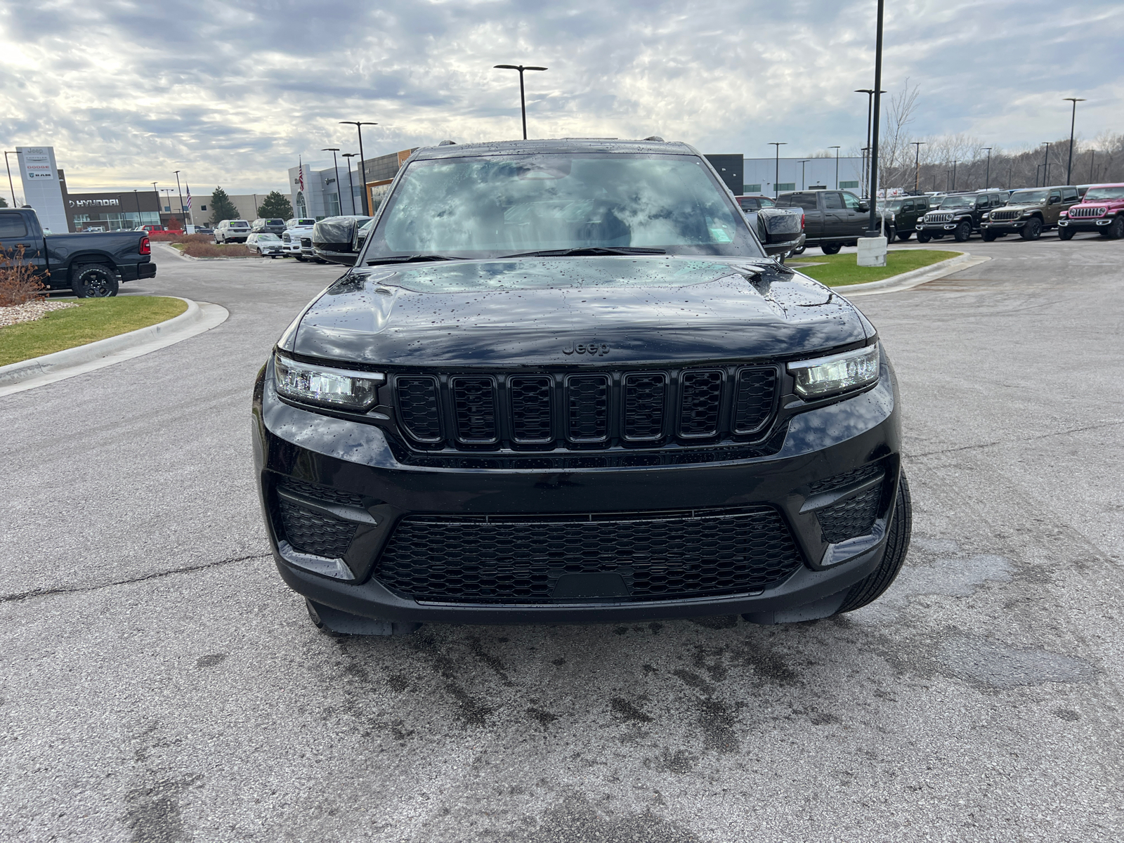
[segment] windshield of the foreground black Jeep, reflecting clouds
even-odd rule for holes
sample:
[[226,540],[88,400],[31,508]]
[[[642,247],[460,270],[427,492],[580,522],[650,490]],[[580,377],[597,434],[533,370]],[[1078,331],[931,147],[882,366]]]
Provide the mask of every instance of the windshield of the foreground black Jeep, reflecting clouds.
[[700,158],[559,153],[411,163],[364,260],[598,247],[763,256]]

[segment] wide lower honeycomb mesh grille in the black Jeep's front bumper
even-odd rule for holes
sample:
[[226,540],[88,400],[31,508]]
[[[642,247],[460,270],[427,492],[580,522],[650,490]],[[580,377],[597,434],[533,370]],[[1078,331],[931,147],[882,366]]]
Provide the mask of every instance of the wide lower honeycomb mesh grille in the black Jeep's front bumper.
[[764,507],[413,516],[399,523],[375,577],[418,600],[551,602],[563,574],[616,573],[628,596],[615,599],[661,600],[756,591],[781,582],[800,564],[785,522]]

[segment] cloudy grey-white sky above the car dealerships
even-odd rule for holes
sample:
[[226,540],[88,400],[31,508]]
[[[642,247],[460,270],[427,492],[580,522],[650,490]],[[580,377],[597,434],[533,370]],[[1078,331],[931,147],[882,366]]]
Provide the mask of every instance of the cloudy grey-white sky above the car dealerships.
[[[1124,132],[1121,0],[889,0],[883,88],[917,136],[1005,148]],[[0,142],[53,145],[71,190],[283,189],[325,146],[661,135],[709,153],[862,146],[876,0],[0,3]],[[330,154],[327,154],[330,163]]]

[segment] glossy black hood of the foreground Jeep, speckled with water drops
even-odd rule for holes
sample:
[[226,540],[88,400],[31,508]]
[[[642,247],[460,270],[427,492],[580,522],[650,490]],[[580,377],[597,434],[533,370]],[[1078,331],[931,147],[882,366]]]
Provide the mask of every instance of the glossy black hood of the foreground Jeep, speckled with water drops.
[[379,365],[544,365],[588,362],[578,345],[638,363],[807,355],[870,336],[846,299],[800,274],[628,256],[352,270],[279,345]]

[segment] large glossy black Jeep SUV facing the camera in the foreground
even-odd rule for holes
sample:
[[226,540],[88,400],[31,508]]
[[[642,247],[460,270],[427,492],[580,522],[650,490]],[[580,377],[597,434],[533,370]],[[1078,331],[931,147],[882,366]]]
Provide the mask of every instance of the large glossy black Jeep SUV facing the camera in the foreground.
[[327,632],[863,606],[909,541],[894,372],[690,146],[415,152],[253,400]]

